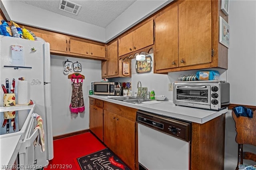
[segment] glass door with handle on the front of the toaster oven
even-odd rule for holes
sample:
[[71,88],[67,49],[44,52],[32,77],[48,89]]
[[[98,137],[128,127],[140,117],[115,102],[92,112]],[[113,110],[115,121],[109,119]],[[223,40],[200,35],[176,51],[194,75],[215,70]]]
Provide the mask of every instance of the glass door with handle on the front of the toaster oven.
[[177,86],[176,101],[210,105],[210,86]]

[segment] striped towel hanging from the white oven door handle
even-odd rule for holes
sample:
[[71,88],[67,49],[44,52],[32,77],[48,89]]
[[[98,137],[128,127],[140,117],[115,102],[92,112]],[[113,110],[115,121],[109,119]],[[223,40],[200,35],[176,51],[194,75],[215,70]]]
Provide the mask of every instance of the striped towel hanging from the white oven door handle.
[[36,147],[36,143],[41,147],[41,152],[45,150],[44,143],[44,127],[43,127],[43,119],[41,116],[36,117],[37,125],[34,130],[38,130],[38,136],[34,140],[34,146]]

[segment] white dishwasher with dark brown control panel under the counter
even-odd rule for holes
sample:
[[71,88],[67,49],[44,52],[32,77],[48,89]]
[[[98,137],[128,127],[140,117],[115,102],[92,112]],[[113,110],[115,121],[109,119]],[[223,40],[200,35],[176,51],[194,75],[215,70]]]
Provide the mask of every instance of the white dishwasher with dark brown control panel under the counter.
[[137,111],[139,170],[189,170],[191,122]]

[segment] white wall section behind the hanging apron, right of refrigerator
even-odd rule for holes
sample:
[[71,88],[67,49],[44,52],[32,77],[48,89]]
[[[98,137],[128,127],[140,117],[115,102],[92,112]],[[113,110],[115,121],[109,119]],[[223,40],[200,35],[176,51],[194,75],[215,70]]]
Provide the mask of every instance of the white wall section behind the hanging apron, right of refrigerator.
[[[82,90],[84,97],[85,111],[83,113],[70,113],[71,101],[71,80],[68,74],[64,75],[64,62],[78,61],[82,65],[79,72],[85,76]],[[74,73],[74,71],[69,74]],[[101,80],[101,61],[80,59],[51,55],[51,87],[52,87],[52,128],[53,136],[85,130],[89,128],[89,90],[92,81]]]

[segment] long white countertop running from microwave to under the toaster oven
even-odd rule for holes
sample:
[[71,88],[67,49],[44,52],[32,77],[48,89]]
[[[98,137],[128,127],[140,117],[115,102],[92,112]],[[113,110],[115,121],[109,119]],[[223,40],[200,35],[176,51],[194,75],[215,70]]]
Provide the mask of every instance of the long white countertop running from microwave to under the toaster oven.
[[162,103],[149,105],[144,103],[133,104],[133,103],[127,103],[124,101],[108,99],[114,96],[89,95],[89,97],[93,97],[95,99],[100,99],[103,101],[108,101],[118,105],[140,109],[140,110],[155,113],[158,115],[164,115],[164,116],[173,117],[173,118],[182,119],[185,121],[190,121],[190,122],[200,123],[200,124],[206,123],[207,121],[210,121],[228,112],[227,107],[220,111],[213,111],[213,110],[206,110],[206,109],[196,109],[192,107],[190,108],[190,107],[184,107],[184,106],[176,106],[172,101],[167,101],[167,100],[163,101]]

